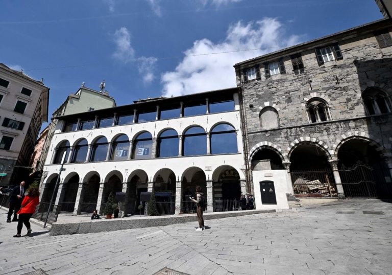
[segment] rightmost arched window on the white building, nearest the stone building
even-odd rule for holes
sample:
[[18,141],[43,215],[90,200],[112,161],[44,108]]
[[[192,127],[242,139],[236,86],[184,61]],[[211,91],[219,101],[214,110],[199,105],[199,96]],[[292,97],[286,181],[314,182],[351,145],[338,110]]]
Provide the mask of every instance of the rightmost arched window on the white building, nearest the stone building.
[[233,126],[222,123],[211,130],[211,154],[238,153],[237,134]]

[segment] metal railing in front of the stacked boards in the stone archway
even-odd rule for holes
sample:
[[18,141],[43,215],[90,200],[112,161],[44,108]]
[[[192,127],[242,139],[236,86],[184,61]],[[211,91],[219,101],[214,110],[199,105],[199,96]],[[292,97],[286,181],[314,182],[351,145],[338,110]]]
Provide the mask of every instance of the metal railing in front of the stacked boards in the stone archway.
[[291,171],[295,195],[307,197],[337,196],[332,171]]

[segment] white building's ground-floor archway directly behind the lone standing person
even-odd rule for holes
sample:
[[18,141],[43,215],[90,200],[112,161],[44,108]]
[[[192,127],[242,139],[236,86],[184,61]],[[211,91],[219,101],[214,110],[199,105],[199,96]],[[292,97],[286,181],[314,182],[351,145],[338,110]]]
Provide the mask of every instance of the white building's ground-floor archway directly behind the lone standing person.
[[181,213],[196,213],[196,204],[189,199],[196,199],[196,187],[200,186],[206,201],[207,210],[207,183],[206,174],[199,167],[190,167],[185,170],[181,180]]

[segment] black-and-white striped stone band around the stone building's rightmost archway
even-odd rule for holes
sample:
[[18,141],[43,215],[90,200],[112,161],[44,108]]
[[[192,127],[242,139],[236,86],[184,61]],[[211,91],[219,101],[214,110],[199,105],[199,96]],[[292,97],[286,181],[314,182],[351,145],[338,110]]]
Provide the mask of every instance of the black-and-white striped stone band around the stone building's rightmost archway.
[[[337,159],[337,153],[339,152],[340,147],[349,140],[359,139],[369,142],[369,145],[374,147],[377,152],[380,153],[380,156],[392,156],[391,152],[388,152],[387,149],[391,148],[391,143],[382,143],[382,141],[374,136],[370,136],[365,132],[355,131],[355,132],[347,132],[346,134],[342,134],[341,139],[336,140],[335,144],[332,146],[333,148],[333,156]],[[392,142],[392,137],[389,138],[389,141]]]

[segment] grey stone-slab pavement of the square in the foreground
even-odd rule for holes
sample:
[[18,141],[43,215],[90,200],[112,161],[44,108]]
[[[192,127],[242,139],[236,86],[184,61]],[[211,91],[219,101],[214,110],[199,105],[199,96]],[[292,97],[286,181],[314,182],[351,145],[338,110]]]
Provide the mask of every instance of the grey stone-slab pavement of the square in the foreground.
[[380,200],[210,220],[203,232],[191,222],[50,236],[33,224],[31,237],[13,238],[5,221],[0,212],[1,274],[392,273],[392,203]]

